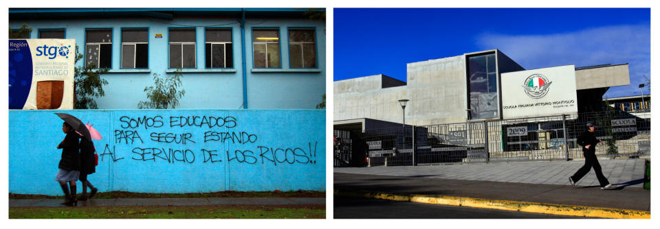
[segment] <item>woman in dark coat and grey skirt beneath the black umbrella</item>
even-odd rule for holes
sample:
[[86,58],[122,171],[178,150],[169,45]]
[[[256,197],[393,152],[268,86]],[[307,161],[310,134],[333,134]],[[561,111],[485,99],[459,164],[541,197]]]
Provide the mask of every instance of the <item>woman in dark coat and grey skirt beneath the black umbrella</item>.
[[[58,149],[62,149],[62,158],[58,165],[60,170],[57,172],[55,180],[60,183],[62,191],[64,191],[66,200],[62,204],[73,206],[77,202],[76,180],[78,180],[78,176],[80,175],[78,134],[67,123],[62,125],[62,131],[67,136],[65,136],[64,141],[57,145]],[[68,187],[67,182],[69,182]]]

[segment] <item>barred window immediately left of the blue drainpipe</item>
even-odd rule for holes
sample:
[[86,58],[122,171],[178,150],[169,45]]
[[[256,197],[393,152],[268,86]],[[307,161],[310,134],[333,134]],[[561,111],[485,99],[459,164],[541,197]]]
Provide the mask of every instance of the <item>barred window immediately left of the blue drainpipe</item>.
[[233,68],[232,29],[206,28],[206,68]]

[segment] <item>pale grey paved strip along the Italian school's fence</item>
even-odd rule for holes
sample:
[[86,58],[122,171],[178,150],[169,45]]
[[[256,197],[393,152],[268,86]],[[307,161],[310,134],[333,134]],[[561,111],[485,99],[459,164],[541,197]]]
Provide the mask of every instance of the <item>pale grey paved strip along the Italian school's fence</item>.
[[[603,173],[612,184],[643,187],[644,159],[599,159]],[[392,167],[334,168],[336,173],[359,173],[385,176],[443,178],[450,180],[485,180],[527,184],[570,185],[568,177],[584,165],[584,160],[538,162],[491,162],[465,165],[421,165]],[[580,182],[580,186],[598,185],[593,169]]]

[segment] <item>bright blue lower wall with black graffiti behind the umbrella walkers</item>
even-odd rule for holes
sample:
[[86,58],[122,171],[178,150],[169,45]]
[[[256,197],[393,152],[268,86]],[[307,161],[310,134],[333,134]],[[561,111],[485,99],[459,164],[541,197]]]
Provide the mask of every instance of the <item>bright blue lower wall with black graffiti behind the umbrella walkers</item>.
[[55,112],[102,134],[88,178],[100,191],[325,191],[323,110],[10,110],[10,193],[62,194],[56,146],[65,134]]

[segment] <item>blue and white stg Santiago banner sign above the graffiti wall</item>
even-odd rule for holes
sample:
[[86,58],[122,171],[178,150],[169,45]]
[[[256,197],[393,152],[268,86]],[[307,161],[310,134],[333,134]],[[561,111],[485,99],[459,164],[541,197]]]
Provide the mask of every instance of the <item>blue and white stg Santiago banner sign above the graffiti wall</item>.
[[9,108],[73,109],[75,39],[9,40]]

